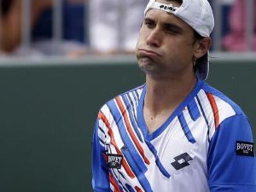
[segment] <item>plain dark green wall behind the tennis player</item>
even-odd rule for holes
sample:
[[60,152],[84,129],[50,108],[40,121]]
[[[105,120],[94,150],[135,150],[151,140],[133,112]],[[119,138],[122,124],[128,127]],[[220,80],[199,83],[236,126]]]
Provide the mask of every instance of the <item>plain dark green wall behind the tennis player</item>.
[[[255,135],[256,64],[213,61],[208,82],[249,116]],[[0,191],[92,191],[98,109],[144,82],[135,60],[0,65]]]

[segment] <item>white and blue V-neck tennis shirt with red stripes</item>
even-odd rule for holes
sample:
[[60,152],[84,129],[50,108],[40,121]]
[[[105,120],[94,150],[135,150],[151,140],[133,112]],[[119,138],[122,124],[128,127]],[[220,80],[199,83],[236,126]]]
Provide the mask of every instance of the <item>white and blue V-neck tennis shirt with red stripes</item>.
[[146,86],[101,107],[93,136],[93,190],[256,191],[252,130],[244,112],[207,83],[149,134]]

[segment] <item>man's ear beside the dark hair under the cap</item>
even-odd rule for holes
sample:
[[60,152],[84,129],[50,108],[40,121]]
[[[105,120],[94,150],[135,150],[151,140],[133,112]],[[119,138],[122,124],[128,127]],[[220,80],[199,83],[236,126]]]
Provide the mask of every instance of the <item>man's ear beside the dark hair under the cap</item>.
[[202,40],[197,40],[194,46],[194,58],[199,59],[204,56],[211,47],[211,38],[205,37]]

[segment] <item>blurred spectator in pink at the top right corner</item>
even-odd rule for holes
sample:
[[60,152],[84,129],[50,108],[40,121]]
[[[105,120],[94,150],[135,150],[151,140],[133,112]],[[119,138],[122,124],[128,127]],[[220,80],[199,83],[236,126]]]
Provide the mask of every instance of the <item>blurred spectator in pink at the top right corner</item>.
[[[254,51],[256,51],[256,1],[254,1]],[[224,36],[223,48],[228,51],[247,51],[249,45],[247,44],[246,36],[246,7],[244,0],[237,0],[229,14],[229,28],[228,35]]]

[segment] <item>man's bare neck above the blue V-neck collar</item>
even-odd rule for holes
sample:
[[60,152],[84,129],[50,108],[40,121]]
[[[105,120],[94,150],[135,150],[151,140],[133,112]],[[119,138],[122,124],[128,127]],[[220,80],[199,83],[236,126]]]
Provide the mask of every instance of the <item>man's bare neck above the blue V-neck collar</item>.
[[148,132],[158,129],[193,90],[197,78],[155,79],[147,76],[143,114]]

